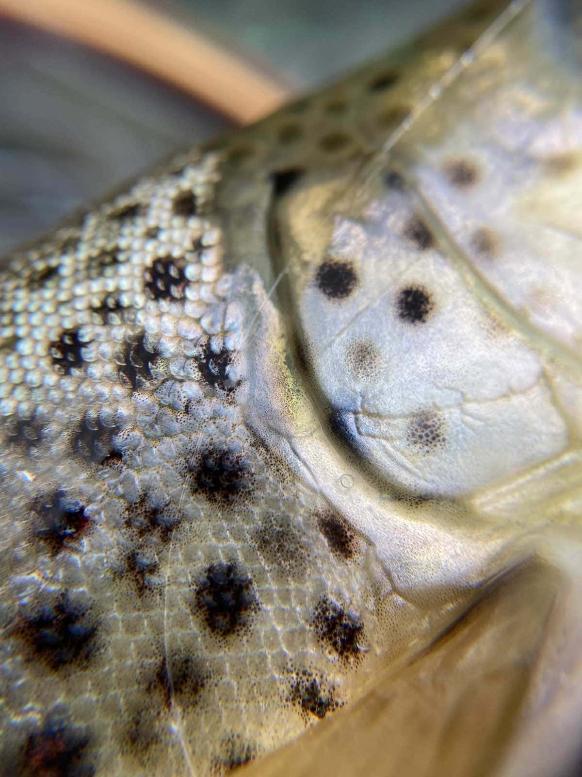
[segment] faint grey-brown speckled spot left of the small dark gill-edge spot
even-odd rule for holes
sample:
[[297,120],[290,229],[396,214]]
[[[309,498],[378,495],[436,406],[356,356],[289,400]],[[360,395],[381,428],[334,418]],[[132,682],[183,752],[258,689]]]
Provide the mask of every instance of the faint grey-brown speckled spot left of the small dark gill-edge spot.
[[309,551],[289,515],[265,514],[254,539],[258,552],[268,565],[293,575],[304,573],[307,569]]

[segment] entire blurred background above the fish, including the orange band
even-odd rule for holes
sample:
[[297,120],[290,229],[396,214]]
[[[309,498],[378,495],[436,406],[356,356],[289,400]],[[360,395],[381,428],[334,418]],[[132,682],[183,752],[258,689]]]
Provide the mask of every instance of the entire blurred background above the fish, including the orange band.
[[[245,97],[247,79],[236,75],[244,68],[257,77],[255,98],[264,80],[270,109],[469,5],[467,0],[130,0],[137,21],[128,24],[122,13],[128,0],[119,6],[106,0],[103,7],[102,0],[72,0],[69,7],[71,0],[19,2],[29,4],[25,21],[18,10],[24,5],[0,0],[0,254],[173,150],[264,113],[263,103],[256,109],[252,103],[248,115],[227,115],[229,89]],[[88,19],[88,9],[98,12],[99,24]],[[56,34],[54,19],[61,10],[67,29]],[[85,28],[91,45],[79,42]],[[154,30],[160,44],[155,51],[146,30]],[[234,57],[230,85],[210,85],[212,99],[200,99],[200,82],[210,77],[205,63],[213,60],[201,52],[202,75],[195,72],[187,57],[175,56],[173,33],[182,36],[180,44],[192,57],[198,56],[200,40]],[[132,55],[105,53],[115,35],[120,50],[125,41]]]

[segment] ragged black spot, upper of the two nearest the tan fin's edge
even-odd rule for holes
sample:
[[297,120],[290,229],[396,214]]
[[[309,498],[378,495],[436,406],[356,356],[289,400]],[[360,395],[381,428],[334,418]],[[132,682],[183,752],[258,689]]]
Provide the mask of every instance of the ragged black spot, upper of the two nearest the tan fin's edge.
[[311,622],[320,643],[345,664],[362,659],[364,624],[357,615],[322,596]]

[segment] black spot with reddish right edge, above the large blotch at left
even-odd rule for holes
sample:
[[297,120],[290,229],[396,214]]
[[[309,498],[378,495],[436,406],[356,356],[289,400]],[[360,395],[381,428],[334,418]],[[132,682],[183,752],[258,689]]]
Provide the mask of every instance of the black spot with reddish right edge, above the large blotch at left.
[[47,544],[53,555],[64,549],[70,540],[84,535],[91,525],[85,507],[61,488],[38,500],[33,510],[40,519],[34,534]]

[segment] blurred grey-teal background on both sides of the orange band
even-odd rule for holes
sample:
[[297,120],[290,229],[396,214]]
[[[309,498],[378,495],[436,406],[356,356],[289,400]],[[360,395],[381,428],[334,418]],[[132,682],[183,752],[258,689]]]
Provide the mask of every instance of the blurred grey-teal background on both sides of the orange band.
[[[91,2],[91,0],[83,0]],[[466,0],[151,0],[289,84],[317,88]],[[229,120],[86,47],[0,19],[0,254]]]

